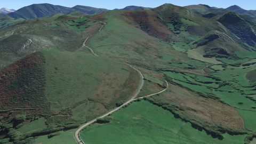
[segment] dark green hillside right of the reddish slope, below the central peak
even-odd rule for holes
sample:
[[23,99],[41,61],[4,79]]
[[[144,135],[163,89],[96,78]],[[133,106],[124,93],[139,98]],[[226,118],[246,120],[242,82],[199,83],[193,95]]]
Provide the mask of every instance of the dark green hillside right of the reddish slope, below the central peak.
[[207,31],[222,29],[216,21],[203,18],[185,7],[165,4],[154,11],[170,30],[182,38],[183,42],[195,41],[196,36],[203,36]]

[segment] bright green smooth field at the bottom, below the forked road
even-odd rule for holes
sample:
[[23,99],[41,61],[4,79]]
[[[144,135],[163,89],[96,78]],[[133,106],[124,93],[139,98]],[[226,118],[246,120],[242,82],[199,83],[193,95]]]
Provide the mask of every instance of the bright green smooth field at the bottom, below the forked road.
[[218,140],[174,118],[170,111],[147,101],[134,102],[111,117],[108,124],[93,124],[80,135],[85,143],[243,143],[245,135],[223,134]]

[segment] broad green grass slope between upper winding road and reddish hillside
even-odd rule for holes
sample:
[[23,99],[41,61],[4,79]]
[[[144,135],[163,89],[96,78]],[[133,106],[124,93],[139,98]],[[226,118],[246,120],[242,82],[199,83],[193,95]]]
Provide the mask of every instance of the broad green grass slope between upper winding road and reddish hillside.
[[[159,41],[127,23],[121,11],[107,12],[104,17],[107,19],[107,25],[93,35],[88,44],[95,53],[103,57],[156,68],[177,67],[178,62],[170,64],[173,60],[183,63],[189,63],[191,60],[187,54],[175,51],[169,43]],[[177,55],[182,59],[177,59]],[[202,64],[198,61],[193,63]]]

